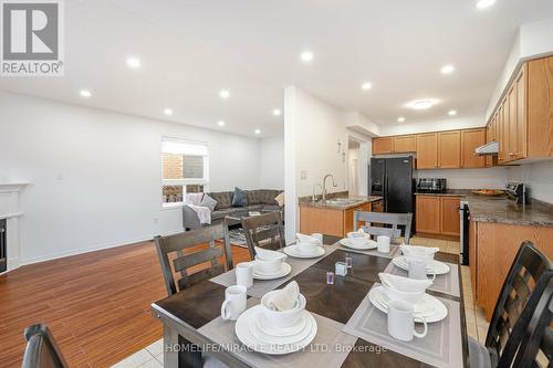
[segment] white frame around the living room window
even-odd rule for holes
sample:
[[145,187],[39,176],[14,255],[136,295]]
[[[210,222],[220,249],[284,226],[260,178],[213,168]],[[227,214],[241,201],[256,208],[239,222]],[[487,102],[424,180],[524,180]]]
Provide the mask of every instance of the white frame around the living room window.
[[[188,144],[188,145],[197,145],[197,146],[202,146],[206,149],[205,155],[197,155],[197,156],[204,156],[204,178],[195,178],[195,179],[164,179],[164,154],[166,151],[164,150],[164,141],[168,140],[174,140],[176,143],[182,143],[182,144]],[[204,186],[204,191],[208,191],[209,188],[209,147],[207,143],[205,141],[196,141],[196,140],[190,140],[190,139],[185,139],[185,138],[179,138],[179,137],[170,137],[170,136],[161,136],[161,141],[160,141],[160,171],[161,171],[161,208],[163,209],[171,209],[171,208],[178,208],[182,207],[182,202],[164,202],[164,187],[182,187],[182,199],[186,196],[186,186],[189,185],[197,185],[197,186]],[[189,156],[195,156],[195,155],[189,155]]]

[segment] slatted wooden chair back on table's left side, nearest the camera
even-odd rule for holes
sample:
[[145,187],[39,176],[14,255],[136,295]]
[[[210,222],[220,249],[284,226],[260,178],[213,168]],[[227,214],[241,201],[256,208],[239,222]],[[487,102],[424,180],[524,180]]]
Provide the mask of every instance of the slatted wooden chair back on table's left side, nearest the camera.
[[[222,241],[222,250],[216,244],[216,240]],[[227,270],[232,269],[232,251],[228,229],[222,224],[199,228],[169,236],[156,236],[154,241],[169,296],[223,273],[225,265],[217,262],[217,257],[223,254]],[[209,244],[209,246],[199,251],[194,250],[195,246],[205,244]],[[171,262],[170,255],[174,253],[176,253],[176,257]],[[195,273],[189,272],[190,267],[207,262],[211,264],[209,267]],[[179,274],[180,278],[175,281],[175,274]]]

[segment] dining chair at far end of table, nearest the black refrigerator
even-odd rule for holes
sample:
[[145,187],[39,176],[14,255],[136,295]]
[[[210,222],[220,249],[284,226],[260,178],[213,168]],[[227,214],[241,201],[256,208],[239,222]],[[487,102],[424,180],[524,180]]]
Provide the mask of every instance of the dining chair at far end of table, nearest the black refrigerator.
[[[385,212],[353,212],[353,230],[357,231],[358,223],[365,222],[362,227],[363,230],[373,236],[387,235],[392,239],[392,243],[397,243],[401,236],[401,229],[399,225],[405,227],[404,242],[409,244],[411,233],[413,213],[385,213]],[[371,223],[371,224],[368,224]],[[374,227],[373,223],[390,225],[388,227]]]

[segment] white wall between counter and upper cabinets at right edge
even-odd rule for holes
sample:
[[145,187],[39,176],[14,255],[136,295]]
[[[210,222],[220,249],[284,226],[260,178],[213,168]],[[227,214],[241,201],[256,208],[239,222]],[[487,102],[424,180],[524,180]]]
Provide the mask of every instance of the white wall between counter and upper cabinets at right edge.
[[532,198],[553,204],[553,160],[512,167],[509,180],[526,183]]

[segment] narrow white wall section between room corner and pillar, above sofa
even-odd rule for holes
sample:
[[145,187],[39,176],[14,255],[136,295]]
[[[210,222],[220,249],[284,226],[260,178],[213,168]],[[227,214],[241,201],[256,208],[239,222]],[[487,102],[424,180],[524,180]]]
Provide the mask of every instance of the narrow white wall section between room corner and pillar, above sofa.
[[263,189],[284,189],[284,137],[259,139],[259,183]]

